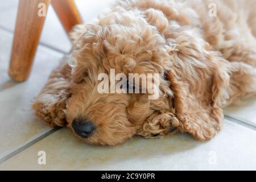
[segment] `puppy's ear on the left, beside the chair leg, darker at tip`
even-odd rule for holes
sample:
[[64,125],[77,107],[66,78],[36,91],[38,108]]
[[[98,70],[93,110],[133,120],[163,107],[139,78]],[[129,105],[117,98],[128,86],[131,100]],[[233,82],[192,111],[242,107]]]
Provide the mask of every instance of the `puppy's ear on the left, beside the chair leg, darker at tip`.
[[35,114],[51,126],[65,126],[65,109],[68,102],[71,83],[71,67],[65,57],[56,69],[53,69],[46,85],[32,103]]

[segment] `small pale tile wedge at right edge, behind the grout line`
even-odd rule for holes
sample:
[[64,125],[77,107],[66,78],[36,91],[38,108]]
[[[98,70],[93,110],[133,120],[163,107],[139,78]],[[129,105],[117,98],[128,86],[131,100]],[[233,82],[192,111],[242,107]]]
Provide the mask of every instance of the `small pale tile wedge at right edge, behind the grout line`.
[[256,127],[256,97],[247,98],[239,105],[230,105],[225,108],[224,113]]

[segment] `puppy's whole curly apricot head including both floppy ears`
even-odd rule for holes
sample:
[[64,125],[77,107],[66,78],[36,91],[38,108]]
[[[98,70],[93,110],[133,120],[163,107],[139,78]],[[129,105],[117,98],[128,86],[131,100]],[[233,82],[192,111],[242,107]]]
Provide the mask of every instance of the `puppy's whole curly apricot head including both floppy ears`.
[[[67,121],[74,134],[92,144],[176,130],[201,140],[213,137],[220,129],[225,76],[203,40],[160,11],[146,11],[148,17],[155,14],[151,19],[124,12],[73,32],[69,68],[62,69],[69,75],[52,76],[34,104],[38,115],[56,125]],[[133,83],[131,74],[139,82]]]

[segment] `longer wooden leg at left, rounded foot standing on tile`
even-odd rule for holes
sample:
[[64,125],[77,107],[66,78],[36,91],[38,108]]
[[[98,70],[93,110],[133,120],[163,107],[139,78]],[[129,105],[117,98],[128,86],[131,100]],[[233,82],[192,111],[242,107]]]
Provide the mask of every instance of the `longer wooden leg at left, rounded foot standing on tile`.
[[25,81],[30,75],[45,16],[39,16],[39,3],[46,10],[51,0],[19,0],[14,32],[9,75],[16,81]]

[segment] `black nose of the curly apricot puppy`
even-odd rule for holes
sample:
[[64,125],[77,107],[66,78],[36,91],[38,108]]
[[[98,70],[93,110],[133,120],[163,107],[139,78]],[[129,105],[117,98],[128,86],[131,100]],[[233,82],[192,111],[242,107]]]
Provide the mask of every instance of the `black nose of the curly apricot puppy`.
[[72,127],[77,135],[82,138],[90,137],[95,131],[95,126],[90,121],[83,121],[82,119],[74,119]]

